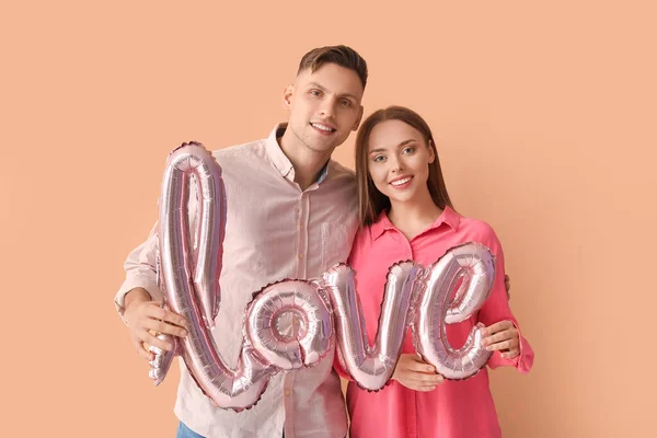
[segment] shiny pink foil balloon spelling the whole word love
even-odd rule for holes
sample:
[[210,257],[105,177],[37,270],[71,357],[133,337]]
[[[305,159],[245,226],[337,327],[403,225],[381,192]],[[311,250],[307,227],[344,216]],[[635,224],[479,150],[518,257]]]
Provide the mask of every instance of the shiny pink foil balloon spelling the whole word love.
[[[187,211],[192,178],[198,198],[194,230],[189,230]],[[184,143],[170,154],[162,183],[158,277],[163,306],[184,316],[189,326],[184,338],[159,335],[174,345],[172,350],[151,347],[155,358],[150,377],[155,384],[180,355],[217,406],[241,411],[260,400],[272,376],[318,364],[335,342],[344,369],[361,388],[378,391],[392,377],[408,326],[417,353],[447,379],[475,374],[491,356],[481,345],[483,324],[472,328],[459,349],[447,339],[446,324],[476,312],[495,277],[491,251],[465,243],[426,268],[408,261],[390,267],[374,345],[368,342],[349,266],[334,266],[321,278],[285,279],[266,286],[254,293],[246,309],[242,350],[238,366],[231,369],[210,332],[221,303],[224,229],[221,168],[203,145]],[[289,321],[286,316],[290,314],[299,325],[295,335],[283,322]]]

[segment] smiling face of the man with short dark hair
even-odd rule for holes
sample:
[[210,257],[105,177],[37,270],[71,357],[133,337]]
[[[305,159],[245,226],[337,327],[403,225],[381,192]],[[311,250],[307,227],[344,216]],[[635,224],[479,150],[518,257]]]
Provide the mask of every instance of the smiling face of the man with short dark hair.
[[284,94],[290,129],[302,147],[331,153],[362,117],[362,84],[358,74],[335,64],[324,64],[314,72],[306,69]]

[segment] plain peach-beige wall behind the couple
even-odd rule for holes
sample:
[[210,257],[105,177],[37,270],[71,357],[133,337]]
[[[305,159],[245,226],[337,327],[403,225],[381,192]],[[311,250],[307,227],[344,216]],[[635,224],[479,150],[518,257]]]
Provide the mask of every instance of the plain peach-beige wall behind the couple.
[[2,2],[0,435],[174,435],[177,367],[154,389],[112,306],[166,153],[265,137],[299,58],[344,43],[366,112],[423,114],[505,246],[537,350],[492,373],[505,436],[654,436],[653,2],[235,3]]

